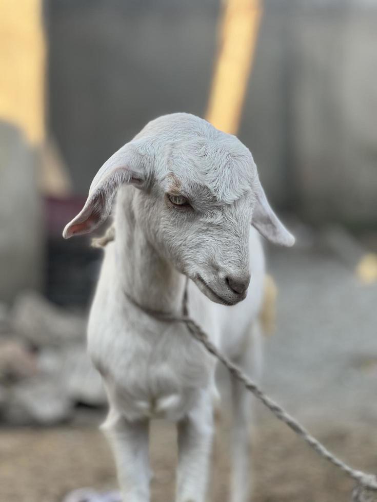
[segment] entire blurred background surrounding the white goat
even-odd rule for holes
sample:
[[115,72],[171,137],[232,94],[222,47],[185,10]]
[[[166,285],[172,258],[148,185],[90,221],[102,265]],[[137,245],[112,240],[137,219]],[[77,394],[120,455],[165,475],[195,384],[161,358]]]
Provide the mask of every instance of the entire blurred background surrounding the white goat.
[[[101,251],[61,234],[102,163],[177,111],[240,137],[297,237],[267,248],[263,386],[376,472],[377,0],[0,0],[0,36],[0,501],[116,486],[85,353]],[[225,402],[220,502],[229,414]],[[257,502],[349,499],[348,480],[255,415]],[[153,427],[163,502],[174,432]]]

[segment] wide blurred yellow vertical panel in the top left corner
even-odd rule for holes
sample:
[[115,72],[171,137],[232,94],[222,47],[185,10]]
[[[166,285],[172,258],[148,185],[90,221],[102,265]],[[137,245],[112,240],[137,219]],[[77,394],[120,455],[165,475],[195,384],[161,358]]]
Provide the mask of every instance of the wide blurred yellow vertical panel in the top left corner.
[[0,0],[0,121],[29,143],[45,139],[45,59],[41,0]]

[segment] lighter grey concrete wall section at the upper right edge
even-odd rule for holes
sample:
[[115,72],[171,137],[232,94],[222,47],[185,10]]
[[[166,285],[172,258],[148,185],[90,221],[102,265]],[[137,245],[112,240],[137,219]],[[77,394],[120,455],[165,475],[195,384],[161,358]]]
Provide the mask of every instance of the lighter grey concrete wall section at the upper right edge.
[[291,28],[297,206],[314,221],[377,226],[377,10],[303,12]]

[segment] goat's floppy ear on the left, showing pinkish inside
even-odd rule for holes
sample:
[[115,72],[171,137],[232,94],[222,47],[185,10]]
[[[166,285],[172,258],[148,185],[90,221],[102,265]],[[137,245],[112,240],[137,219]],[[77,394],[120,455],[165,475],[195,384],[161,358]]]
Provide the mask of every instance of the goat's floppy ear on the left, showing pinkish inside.
[[109,216],[120,185],[131,183],[141,188],[144,182],[140,157],[128,143],[115,152],[95,175],[83,209],[66,225],[63,237],[69,239],[73,235],[92,232]]

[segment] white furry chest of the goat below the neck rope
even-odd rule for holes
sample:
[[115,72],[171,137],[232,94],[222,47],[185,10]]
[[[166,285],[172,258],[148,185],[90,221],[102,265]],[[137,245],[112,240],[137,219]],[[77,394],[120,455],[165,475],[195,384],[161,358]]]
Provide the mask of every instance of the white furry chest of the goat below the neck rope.
[[112,406],[128,420],[179,420],[214,386],[214,361],[185,326],[91,315],[88,350]]

